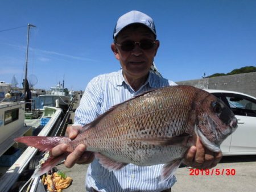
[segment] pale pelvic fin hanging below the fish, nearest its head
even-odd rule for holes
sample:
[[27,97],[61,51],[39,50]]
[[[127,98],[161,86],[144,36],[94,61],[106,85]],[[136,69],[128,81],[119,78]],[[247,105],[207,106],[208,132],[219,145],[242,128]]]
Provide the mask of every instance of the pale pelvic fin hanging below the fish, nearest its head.
[[177,160],[171,161],[168,164],[165,164],[161,170],[161,182],[164,182],[174,176],[177,168],[179,168],[182,159],[179,158]]

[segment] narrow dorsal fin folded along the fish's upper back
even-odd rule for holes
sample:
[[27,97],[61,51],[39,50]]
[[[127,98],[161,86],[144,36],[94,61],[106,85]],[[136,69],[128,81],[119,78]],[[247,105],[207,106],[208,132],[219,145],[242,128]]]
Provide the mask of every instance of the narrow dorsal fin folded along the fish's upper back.
[[156,89],[151,89],[151,90],[149,90],[149,91],[144,91],[144,92],[141,93],[141,94],[135,95],[135,96],[134,96],[133,98],[131,98],[131,99],[128,99],[128,100],[126,100],[126,101],[124,101],[124,102],[121,102],[121,103],[119,103],[119,104],[117,104],[117,105],[114,105],[114,106],[110,107],[109,110],[107,110],[107,111],[105,111],[103,114],[97,116],[97,118],[94,119],[92,122],[86,124],[86,125],[83,127],[84,130],[87,130],[88,128],[91,128],[91,127],[95,127],[96,124],[101,121],[101,119],[103,119],[103,118],[104,118],[106,115],[108,115],[110,112],[114,111],[115,108],[117,108],[118,106],[123,105],[123,103],[130,102],[131,100],[133,100],[133,99],[135,99],[135,98],[142,97],[143,95],[145,95],[145,94],[147,94],[147,93],[150,93],[150,92],[152,92],[152,91],[155,91],[155,90],[156,90]]

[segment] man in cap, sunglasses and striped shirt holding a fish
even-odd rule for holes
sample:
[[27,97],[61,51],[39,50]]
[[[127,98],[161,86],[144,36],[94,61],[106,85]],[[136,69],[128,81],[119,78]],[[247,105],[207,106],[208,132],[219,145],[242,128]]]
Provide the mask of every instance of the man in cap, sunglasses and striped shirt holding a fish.
[[[122,70],[103,74],[89,82],[76,110],[75,124],[67,129],[68,136],[72,139],[79,133],[81,126],[92,122],[113,105],[150,89],[176,85],[150,72],[159,48],[155,25],[150,16],[139,11],[122,15],[115,26],[113,39],[111,49]],[[58,145],[52,149],[51,155],[60,155],[66,149],[67,145]],[[84,152],[85,149],[85,145],[79,145],[67,157],[65,165],[70,168],[75,163],[92,162],[86,175],[88,191],[170,191],[176,181],[176,178],[172,177],[160,182],[160,170],[163,165],[128,164],[122,169],[109,172],[94,159],[93,153]],[[221,153],[207,151],[197,139],[196,147],[189,149],[184,163],[194,168],[212,168],[221,157]]]

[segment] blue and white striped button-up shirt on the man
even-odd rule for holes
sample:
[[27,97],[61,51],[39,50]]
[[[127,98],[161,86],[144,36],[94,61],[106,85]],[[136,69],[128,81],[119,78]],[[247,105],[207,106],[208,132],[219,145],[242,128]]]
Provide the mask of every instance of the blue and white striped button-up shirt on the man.
[[[175,82],[150,73],[145,84],[134,91],[126,83],[122,70],[102,74],[93,78],[85,89],[80,105],[76,110],[75,124],[85,125],[110,107],[133,98],[134,95],[158,87],[176,85]],[[89,165],[86,175],[86,190],[93,191],[162,191],[170,189],[176,178],[160,183],[163,165],[137,166],[128,164],[122,169],[109,172],[97,159]]]

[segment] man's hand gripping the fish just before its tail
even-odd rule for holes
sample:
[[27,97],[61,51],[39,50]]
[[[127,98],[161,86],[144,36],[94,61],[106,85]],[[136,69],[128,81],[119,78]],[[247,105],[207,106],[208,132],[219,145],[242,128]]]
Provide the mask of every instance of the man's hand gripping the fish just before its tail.
[[[66,133],[70,139],[75,139],[76,136],[82,130],[82,126],[71,126],[67,128]],[[67,151],[67,144],[59,144],[56,147],[52,148],[50,151],[50,156],[59,156]],[[85,152],[86,146],[84,144],[80,144],[76,147],[76,149],[70,153],[64,164],[67,168],[71,168],[75,164],[89,164],[93,161],[94,155],[92,152]]]

